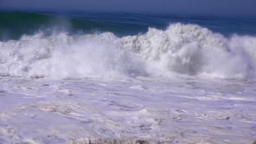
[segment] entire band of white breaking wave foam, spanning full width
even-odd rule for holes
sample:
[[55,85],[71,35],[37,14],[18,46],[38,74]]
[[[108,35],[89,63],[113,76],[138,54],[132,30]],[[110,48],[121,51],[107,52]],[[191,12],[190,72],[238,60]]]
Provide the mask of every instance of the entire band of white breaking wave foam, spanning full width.
[[198,25],[118,38],[113,33],[24,35],[0,42],[0,75],[126,79],[183,74],[254,79],[256,37],[225,38]]

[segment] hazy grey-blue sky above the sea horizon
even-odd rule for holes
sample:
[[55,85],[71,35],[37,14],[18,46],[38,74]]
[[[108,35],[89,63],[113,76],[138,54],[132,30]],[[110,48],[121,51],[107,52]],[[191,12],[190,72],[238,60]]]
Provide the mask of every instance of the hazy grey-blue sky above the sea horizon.
[[256,0],[0,0],[0,8],[256,15]]

